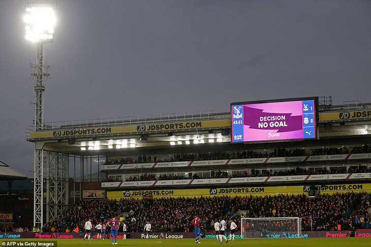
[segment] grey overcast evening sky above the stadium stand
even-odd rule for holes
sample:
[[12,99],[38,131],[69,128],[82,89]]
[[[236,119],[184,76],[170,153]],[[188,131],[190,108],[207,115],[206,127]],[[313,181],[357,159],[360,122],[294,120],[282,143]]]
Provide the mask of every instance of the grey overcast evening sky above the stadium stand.
[[[33,176],[36,45],[24,13],[25,1],[0,0],[0,161]],[[371,102],[370,13],[369,0],[60,0],[45,121],[309,96]]]

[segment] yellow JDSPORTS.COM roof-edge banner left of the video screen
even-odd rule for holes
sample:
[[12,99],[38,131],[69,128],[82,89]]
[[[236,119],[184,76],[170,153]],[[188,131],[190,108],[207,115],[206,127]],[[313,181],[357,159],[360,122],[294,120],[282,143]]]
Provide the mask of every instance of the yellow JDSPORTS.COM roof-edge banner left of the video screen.
[[173,131],[184,129],[199,129],[213,127],[230,127],[230,120],[210,120],[210,121],[189,121],[174,122],[169,124],[156,125],[136,125],[122,127],[100,127],[100,128],[81,128],[71,130],[40,131],[29,133],[30,139],[35,138],[53,138],[53,137],[78,137],[87,135],[107,135],[107,134],[125,134],[125,133],[150,133],[156,131]]

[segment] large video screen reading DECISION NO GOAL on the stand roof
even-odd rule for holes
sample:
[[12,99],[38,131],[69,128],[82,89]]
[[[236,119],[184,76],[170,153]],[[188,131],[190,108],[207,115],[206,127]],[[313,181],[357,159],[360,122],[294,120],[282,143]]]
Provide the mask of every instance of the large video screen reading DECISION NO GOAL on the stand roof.
[[317,99],[231,104],[232,142],[317,138]]

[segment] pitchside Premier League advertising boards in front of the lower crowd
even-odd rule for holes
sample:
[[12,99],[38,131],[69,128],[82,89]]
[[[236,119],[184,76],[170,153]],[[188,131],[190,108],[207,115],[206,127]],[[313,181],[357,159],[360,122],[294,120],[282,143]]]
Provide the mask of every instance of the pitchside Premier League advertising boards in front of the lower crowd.
[[[325,237],[325,238],[338,238],[338,237],[349,237],[349,231],[314,231],[301,232],[301,238],[311,237]],[[297,232],[249,232],[246,233],[249,238],[297,238]],[[85,233],[55,233],[55,232],[0,232],[0,239],[22,239],[22,238],[56,238],[56,239],[78,239],[83,238]],[[110,234],[106,235],[106,238],[110,238]],[[229,237],[229,233],[225,234]],[[145,238],[146,233],[134,232],[129,233],[129,238],[141,239]],[[355,231],[355,237],[371,237],[371,230],[357,230]],[[94,235],[97,238],[97,234]],[[117,235],[118,239],[123,238],[123,233]],[[151,232],[149,233],[150,239],[179,239],[179,238],[195,238],[195,234],[192,232]],[[215,238],[214,232],[201,233],[201,238]],[[235,238],[241,238],[241,233],[237,232]]]

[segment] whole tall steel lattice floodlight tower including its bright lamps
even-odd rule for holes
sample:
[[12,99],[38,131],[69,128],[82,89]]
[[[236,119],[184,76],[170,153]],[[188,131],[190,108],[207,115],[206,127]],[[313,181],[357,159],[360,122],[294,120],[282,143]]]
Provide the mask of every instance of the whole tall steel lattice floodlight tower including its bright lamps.
[[[35,131],[44,129],[44,81],[49,77],[48,65],[44,64],[45,44],[53,42],[54,3],[26,3],[26,40],[37,43],[36,64],[31,64],[32,77],[35,79]],[[34,225],[43,226],[43,164],[44,145],[35,142],[34,159]]]

